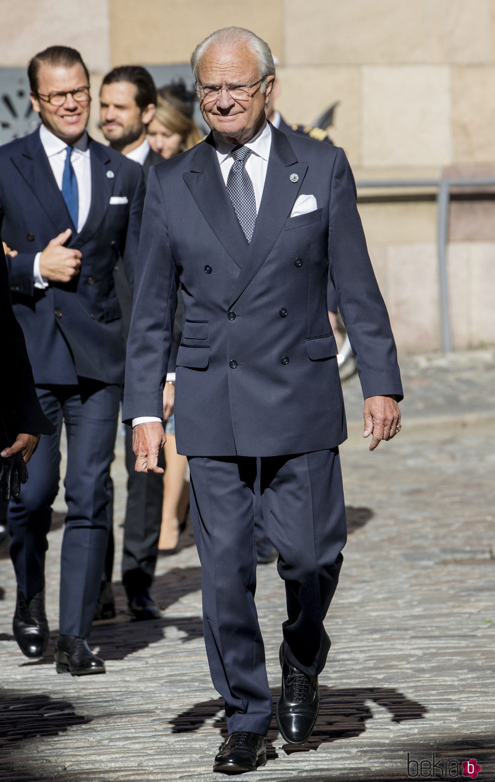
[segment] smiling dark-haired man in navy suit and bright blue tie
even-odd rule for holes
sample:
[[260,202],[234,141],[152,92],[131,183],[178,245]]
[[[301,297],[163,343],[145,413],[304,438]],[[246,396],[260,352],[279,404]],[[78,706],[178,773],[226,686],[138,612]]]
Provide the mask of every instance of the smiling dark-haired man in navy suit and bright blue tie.
[[38,657],[48,643],[44,565],[67,434],[66,527],[60,572],[56,669],[105,673],[86,644],[109,534],[124,341],[112,270],[120,253],[134,279],[144,199],[138,163],[89,138],[88,69],[72,48],[52,46],[28,69],[41,127],[0,149],[0,222],[14,312],[26,338],[38,399],[56,433],[41,439],[30,480],[9,506],[16,570],[13,631]]

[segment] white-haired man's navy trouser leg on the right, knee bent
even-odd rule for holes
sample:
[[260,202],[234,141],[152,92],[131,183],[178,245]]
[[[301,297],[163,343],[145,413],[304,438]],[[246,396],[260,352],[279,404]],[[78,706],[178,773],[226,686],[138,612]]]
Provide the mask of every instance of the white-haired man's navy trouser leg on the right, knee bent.
[[268,538],[279,552],[278,573],[285,581],[285,655],[317,676],[330,648],[323,620],[346,543],[339,450],[264,457],[261,491]]

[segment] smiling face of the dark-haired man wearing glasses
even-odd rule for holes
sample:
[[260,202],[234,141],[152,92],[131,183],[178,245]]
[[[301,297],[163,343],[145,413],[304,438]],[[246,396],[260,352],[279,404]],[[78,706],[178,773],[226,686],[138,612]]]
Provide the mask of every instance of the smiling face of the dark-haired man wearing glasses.
[[80,63],[70,68],[41,63],[37,92],[30,93],[33,109],[40,115],[41,122],[66,144],[74,144],[83,135],[88,124],[90,101],[76,101],[72,95],[66,95],[61,106],[53,106],[46,97],[54,92],[63,93],[81,88],[89,89],[89,84]]

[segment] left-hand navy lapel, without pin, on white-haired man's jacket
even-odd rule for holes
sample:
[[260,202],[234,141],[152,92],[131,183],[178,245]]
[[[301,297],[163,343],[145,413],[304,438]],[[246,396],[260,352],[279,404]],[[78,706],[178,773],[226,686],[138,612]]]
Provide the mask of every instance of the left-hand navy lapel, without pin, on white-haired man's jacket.
[[242,268],[249,244],[225,187],[211,134],[199,144],[191,170],[183,178],[213,233]]

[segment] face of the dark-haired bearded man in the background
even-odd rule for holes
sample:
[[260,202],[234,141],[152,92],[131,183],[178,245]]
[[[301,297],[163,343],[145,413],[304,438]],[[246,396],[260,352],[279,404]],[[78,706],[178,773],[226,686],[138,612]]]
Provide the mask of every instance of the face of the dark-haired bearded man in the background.
[[[132,144],[143,134],[149,110],[143,112],[135,101],[136,86],[130,81],[103,84],[99,94],[102,133],[110,144]],[[146,116],[145,116],[146,115]],[[152,113],[151,113],[152,116]]]

